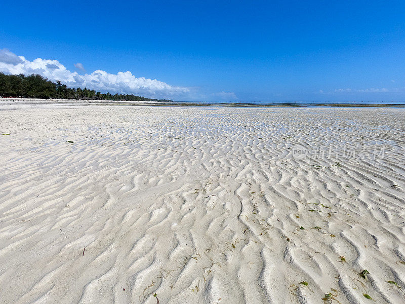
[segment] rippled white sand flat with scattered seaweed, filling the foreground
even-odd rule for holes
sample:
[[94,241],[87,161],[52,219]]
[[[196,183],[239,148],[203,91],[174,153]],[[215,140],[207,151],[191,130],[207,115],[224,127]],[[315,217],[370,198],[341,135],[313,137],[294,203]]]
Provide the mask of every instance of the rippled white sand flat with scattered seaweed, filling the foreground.
[[0,109],[0,303],[405,302],[404,109]]

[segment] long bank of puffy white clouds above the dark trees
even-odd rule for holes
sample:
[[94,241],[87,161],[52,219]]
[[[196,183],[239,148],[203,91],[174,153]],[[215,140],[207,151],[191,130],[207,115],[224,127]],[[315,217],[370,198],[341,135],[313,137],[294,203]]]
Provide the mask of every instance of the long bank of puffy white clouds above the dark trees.
[[[75,66],[78,64],[76,63]],[[78,67],[76,66],[76,68]],[[37,58],[29,61],[7,49],[0,49],[0,72],[24,75],[40,74],[54,82],[59,80],[68,87],[87,87],[102,92],[137,94],[146,97],[170,98],[187,96],[190,93],[190,89],[185,87],[171,86],[144,77],[137,78],[130,71],[111,74],[103,70],[95,70],[90,74],[79,74],[66,69],[58,60]]]

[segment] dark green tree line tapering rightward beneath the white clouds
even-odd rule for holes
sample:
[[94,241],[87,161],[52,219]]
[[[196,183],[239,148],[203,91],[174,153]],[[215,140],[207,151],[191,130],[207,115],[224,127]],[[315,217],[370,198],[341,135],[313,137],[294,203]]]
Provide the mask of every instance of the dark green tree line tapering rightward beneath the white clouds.
[[6,75],[0,72],[0,96],[21,98],[56,98],[56,99],[90,99],[90,100],[128,100],[128,101],[172,101],[153,99],[132,94],[110,94],[96,92],[88,88],[68,88],[60,81],[56,83],[38,74],[25,76]]

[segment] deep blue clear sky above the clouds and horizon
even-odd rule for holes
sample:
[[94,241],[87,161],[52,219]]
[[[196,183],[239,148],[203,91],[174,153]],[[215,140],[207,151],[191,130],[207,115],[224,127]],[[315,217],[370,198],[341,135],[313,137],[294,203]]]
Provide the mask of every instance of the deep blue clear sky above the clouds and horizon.
[[[0,49],[27,62],[57,60],[72,73],[102,70],[108,78],[130,71],[129,81],[165,84],[114,83],[106,86],[110,93],[194,101],[405,101],[403,1],[19,1],[0,6]],[[3,65],[3,71],[16,70]],[[68,77],[66,83],[74,86]],[[91,86],[101,78],[84,79],[82,84]]]

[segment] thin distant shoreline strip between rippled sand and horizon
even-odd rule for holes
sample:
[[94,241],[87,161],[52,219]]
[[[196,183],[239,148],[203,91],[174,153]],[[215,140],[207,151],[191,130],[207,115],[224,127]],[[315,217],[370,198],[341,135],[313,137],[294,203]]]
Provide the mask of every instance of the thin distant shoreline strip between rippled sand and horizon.
[[184,102],[184,101],[127,101],[127,100],[87,100],[87,99],[37,99],[2,98],[0,103],[12,104],[74,104],[74,105],[149,105],[149,106],[220,106],[220,107],[405,107],[405,103],[226,103],[226,102]]

